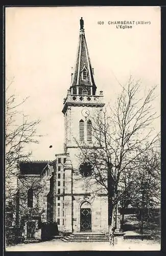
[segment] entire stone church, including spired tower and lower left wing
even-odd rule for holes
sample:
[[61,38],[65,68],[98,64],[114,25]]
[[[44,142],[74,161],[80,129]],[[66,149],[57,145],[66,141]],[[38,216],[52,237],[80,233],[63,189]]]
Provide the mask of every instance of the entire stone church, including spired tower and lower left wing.
[[62,102],[64,152],[54,161],[19,163],[16,221],[26,239],[39,238],[44,222],[56,222],[62,233],[108,232],[107,191],[90,183],[92,166],[80,157],[80,145],[92,148],[96,143],[93,117],[105,105],[93,76],[81,18],[76,65]]

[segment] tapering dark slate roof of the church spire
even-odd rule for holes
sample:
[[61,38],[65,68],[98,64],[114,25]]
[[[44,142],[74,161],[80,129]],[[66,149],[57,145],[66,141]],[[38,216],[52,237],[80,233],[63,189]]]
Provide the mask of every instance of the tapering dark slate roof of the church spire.
[[[87,72],[86,79],[82,79],[83,71]],[[96,89],[83,26],[80,28],[76,65],[71,86],[92,86]]]

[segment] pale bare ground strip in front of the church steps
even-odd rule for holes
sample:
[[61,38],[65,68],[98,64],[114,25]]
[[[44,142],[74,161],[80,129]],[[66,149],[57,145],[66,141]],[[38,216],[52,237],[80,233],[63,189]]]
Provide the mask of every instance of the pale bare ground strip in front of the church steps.
[[35,244],[18,244],[8,246],[6,251],[152,251],[160,250],[160,243],[152,240],[122,240],[110,246],[109,242],[63,242],[61,240],[51,240]]

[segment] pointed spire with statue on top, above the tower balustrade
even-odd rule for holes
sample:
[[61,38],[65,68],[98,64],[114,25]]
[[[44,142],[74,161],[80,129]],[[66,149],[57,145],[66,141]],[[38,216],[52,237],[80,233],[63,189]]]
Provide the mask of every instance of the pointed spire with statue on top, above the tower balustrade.
[[70,91],[71,94],[75,95],[96,95],[96,89],[97,87],[94,83],[93,71],[85,39],[84,21],[81,17],[79,46]]

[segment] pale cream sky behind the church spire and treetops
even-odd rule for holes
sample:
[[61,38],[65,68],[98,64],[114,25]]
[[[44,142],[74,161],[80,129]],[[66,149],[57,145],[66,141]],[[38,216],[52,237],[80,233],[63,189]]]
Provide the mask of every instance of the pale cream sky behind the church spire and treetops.
[[[132,75],[140,79],[143,93],[157,86],[153,105],[160,112],[160,7],[8,7],[6,85],[12,81],[10,93],[17,102],[29,97],[20,110],[30,120],[41,120],[40,143],[27,145],[32,160],[54,160],[63,153],[63,99],[75,65],[80,17],[94,80],[105,102],[113,104]],[[124,20],[134,21],[132,28],[108,24]],[[136,25],[139,20],[150,24]],[[158,129],[159,120],[155,125]]]

